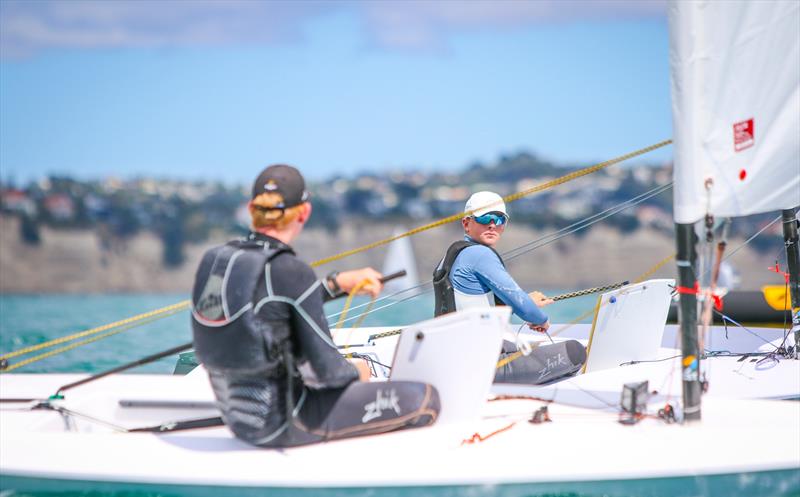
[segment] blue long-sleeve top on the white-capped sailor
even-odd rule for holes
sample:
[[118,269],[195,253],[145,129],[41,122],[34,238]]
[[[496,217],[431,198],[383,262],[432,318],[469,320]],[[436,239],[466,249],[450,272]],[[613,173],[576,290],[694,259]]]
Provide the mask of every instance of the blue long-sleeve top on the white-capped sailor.
[[[465,240],[474,242],[470,237]],[[508,274],[497,255],[480,243],[462,250],[450,270],[453,288],[467,295],[494,294],[510,306],[514,314],[533,324],[544,324],[545,314]]]

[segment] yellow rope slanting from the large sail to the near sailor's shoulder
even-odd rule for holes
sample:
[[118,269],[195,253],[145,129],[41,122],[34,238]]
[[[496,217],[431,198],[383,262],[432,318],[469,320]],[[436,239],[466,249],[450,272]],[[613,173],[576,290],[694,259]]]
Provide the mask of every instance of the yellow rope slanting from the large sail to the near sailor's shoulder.
[[[631,159],[633,157],[636,157],[636,156],[639,156],[639,155],[642,155],[642,154],[646,154],[648,152],[652,152],[653,150],[655,150],[657,148],[664,147],[666,145],[669,145],[670,143],[672,143],[672,140],[664,140],[664,141],[656,143],[654,145],[650,145],[649,147],[645,147],[645,148],[642,148],[640,150],[636,150],[634,152],[619,156],[619,157],[617,157],[615,159],[611,159],[611,160],[608,160],[608,161],[605,161],[605,162],[601,162],[599,164],[595,164],[594,166],[589,166],[589,167],[586,167],[584,169],[580,169],[578,171],[575,171],[575,172],[566,174],[564,176],[561,176],[560,178],[556,178],[556,179],[548,181],[546,183],[542,183],[540,185],[536,185],[536,186],[534,186],[532,188],[529,188],[527,190],[523,190],[521,192],[512,193],[511,195],[507,195],[507,196],[503,197],[503,201],[504,202],[513,202],[513,201],[518,200],[518,199],[520,199],[522,197],[525,197],[526,195],[530,195],[532,193],[537,193],[537,192],[541,192],[543,190],[547,190],[549,188],[553,188],[555,186],[561,185],[561,184],[566,183],[568,181],[572,181],[574,179],[580,178],[581,176],[586,176],[587,174],[592,174],[592,173],[597,172],[597,171],[599,171],[601,169],[604,169],[604,168],[606,168],[608,166],[612,166],[614,164],[617,164],[619,162]],[[483,208],[489,207],[491,205],[493,205],[493,204],[488,204],[486,206],[481,206],[481,207],[478,207],[478,208],[473,209],[473,210],[483,209]],[[354,248],[354,249],[351,249],[351,250],[346,250],[344,252],[341,252],[341,253],[336,254],[336,255],[332,255],[330,257],[326,257],[324,259],[319,259],[317,261],[312,262],[311,266],[312,267],[321,266],[321,265],[327,264],[329,262],[337,261],[339,259],[344,259],[345,257],[351,256],[351,255],[354,255],[354,254],[358,254],[358,253],[361,253],[361,252],[364,252],[364,251],[367,251],[367,250],[370,250],[370,249],[373,249],[373,248],[376,248],[376,247],[380,247],[381,245],[386,245],[386,244],[391,243],[391,242],[393,242],[395,240],[399,240],[400,238],[405,238],[407,236],[416,235],[417,233],[421,233],[423,231],[427,231],[427,230],[430,230],[430,229],[433,229],[433,228],[437,228],[439,226],[442,226],[442,225],[447,224],[447,223],[451,223],[453,221],[458,221],[459,219],[462,219],[465,215],[469,215],[469,214],[472,214],[472,212],[466,212],[466,213],[461,213],[460,212],[458,214],[453,214],[452,216],[449,216],[449,217],[446,217],[446,218],[443,218],[443,219],[439,219],[438,221],[434,221],[432,223],[428,223],[428,224],[425,224],[423,226],[419,226],[419,227],[414,228],[414,229],[412,229],[410,231],[406,231],[405,233],[400,233],[399,235],[391,236],[389,238],[384,238],[383,240],[378,240],[376,242],[368,243],[367,245],[363,245],[363,246],[358,247],[358,248]]]

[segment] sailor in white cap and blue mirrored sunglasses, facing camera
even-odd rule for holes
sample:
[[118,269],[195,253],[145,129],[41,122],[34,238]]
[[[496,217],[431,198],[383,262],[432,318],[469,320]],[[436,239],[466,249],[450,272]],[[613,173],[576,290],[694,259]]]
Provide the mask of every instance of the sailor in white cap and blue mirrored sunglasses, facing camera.
[[[508,225],[503,198],[494,192],[477,192],[464,206],[464,239],[447,249],[433,272],[436,316],[472,307],[508,305],[535,331],[546,332],[550,321],[540,307],[553,303],[541,292],[526,293],[508,273],[494,249]],[[501,358],[517,352],[503,343]],[[541,384],[577,372],[586,350],[574,340],[535,348],[498,370],[495,382]]]

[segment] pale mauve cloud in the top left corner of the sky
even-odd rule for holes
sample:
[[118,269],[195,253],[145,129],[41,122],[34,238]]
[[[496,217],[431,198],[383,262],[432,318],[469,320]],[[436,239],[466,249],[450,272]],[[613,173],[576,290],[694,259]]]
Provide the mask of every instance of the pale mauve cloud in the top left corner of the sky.
[[3,57],[47,48],[193,46],[296,42],[319,1],[73,0],[0,2]]

